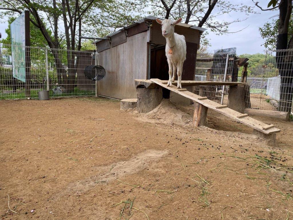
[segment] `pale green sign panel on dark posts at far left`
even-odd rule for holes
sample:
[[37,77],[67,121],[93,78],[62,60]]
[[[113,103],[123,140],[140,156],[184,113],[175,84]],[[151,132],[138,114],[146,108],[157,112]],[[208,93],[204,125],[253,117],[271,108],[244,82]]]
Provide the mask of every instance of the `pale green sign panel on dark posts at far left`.
[[25,82],[25,13],[10,24],[13,77]]

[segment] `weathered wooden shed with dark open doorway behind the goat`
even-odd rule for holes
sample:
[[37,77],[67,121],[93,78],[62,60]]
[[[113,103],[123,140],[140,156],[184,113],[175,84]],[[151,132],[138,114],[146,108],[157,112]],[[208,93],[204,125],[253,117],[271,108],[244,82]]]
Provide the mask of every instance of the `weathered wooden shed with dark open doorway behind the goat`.
[[[99,64],[107,72],[105,79],[98,82],[98,94],[117,99],[136,98],[134,79],[168,79],[166,39],[155,19],[148,16],[108,35],[109,40],[95,42]],[[196,53],[205,30],[184,23],[175,26],[175,32],[185,36],[187,45],[182,80],[194,80]]]

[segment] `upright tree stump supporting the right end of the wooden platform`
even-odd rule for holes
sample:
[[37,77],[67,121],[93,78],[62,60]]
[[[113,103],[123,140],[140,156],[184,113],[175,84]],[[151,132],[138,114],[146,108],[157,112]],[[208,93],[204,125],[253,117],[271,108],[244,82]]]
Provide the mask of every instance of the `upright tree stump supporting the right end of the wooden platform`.
[[228,107],[240,113],[245,110],[245,87],[243,85],[230,86]]

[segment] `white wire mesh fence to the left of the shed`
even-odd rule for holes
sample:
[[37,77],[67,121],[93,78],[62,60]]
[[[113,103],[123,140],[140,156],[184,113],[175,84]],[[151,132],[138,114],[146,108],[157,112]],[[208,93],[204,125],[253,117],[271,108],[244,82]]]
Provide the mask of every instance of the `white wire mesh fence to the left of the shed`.
[[92,52],[1,45],[0,99],[93,96],[96,83],[84,76],[94,65]]

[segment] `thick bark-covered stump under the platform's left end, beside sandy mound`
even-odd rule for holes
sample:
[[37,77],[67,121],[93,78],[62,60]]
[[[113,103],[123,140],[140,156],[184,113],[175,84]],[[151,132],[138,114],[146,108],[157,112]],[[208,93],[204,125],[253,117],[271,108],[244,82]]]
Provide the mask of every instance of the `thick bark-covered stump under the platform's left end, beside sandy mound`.
[[161,87],[155,89],[136,88],[136,94],[139,113],[150,112],[161,103],[163,98]]

